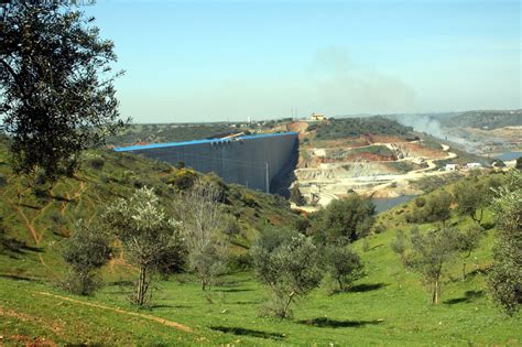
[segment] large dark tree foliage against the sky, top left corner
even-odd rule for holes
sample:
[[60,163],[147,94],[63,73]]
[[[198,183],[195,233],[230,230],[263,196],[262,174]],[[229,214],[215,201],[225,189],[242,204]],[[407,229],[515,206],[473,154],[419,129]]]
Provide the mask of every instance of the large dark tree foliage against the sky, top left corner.
[[42,167],[51,181],[72,175],[81,150],[123,124],[113,44],[72,3],[0,3],[0,113],[13,165],[25,174]]

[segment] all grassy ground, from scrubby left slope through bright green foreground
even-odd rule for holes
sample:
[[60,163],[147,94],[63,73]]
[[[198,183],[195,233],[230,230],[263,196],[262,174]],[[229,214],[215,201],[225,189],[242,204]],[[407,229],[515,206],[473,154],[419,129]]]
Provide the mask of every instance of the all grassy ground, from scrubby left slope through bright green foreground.
[[[105,160],[101,169],[99,160]],[[294,307],[292,319],[260,315],[267,290],[253,273],[232,272],[220,278],[210,294],[188,274],[160,282],[154,306],[137,310],[127,300],[135,269],[121,258],[104,269],[107,286],[93,297],[63,292],[54,285],[63,273],[56,247],[76,218],[97,218],[99,207],[113,196],[128,195],[134,185],[157,186],[168,206],[186,172],[141,158],[110,152],[89,154],[76,178],[61,181],[50,197],[35,198],[0,153],[1,212],[6,239],[14,250],[0,254],[0,344],[165,344],[165,345],[512,345],[522,344],[522,315],[504,317],[485,292],[483,270],[491,263],[494,228],[488,230],[469,261],[470,274],[460,280],[456,259],[444,278],[438,306],[418,275],[407,272],[391,251],[395,230],[409,229],[411,203],[379,215],[381,234],[355,243],[367,275],[351,291],[330,295],[328,282]],[[95,169],[97,167],[97,169]],[[143,180],[144,182],[138,182]],[[168,193],[168,188],[174,192]],[[227,208],[240,216],[249,242],[265,224],[297,221],[278,198],[229,187]],[[454,216],[449,224],[465,227],[469,218]],[[492,225],[490,212],[486,225]],[[421,225],[422,230],[432,227]],[[249,234],[251,232],[251,234]],[[21,243],[23,242],[23,245]],[[365,242],[367,243],[365,246]],[[13,246],[11,245],[11,246]],[[366,250],[366,251],[365,251]]]

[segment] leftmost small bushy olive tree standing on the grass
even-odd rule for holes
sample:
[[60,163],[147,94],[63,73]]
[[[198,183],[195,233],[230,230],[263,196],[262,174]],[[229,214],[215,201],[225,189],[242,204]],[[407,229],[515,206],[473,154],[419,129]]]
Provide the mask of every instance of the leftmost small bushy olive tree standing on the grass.
[[64,288],[75,294],[93,294],[101,283],[95,270],[105,265],[110,256],[108,235],[79,220],[75,232],[62,247],[62,257],[72,270],[63,283]]

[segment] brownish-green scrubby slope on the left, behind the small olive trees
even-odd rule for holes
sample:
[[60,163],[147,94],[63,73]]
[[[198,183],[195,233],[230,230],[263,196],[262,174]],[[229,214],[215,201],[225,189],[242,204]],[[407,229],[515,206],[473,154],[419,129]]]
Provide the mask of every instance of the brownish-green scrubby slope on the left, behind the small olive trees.
[[[0,232],[0,273],[57,278],[63,273],[57,248],[76,220],[96,223],[106,204],[144,185],[154,187],[170,209],[175,195],[196,175],[189,169],[176,170],[132,154],[93,151],[84,156],[75,177],[58,181],[50,192],[44,186],[33,192],[12,173],[7,147],[0,144],[0,216],[4,229]],[[294,226],[300,219],[284,198],[238,185],[225,187],[222,205],[239,223],[240,232],[232,239],[238,250],[248,248],[267,225]],[[124,270],[121,261],[107,269],[110,273]]]

